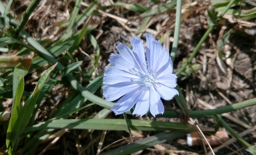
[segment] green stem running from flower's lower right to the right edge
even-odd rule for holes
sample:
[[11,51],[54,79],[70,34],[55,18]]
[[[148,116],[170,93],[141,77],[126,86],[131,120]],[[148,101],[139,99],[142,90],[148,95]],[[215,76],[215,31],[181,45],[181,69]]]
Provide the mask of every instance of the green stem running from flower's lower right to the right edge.
[[[214,115],[221,115],[223,113],[236,111],[238,109],[246,108],[248,106],[256,105],[256,98],[252,98],[250,100],[246,100],[243,102],[239,102],[232,105],[223,106],[216,109],[210,110],[199,110],[199,111],[189,111],[189,116],[191,118],[195,117],[212,117]],[[181,112],[179,112],[182,114]],[[163,115],[157,115],[157,117],[169,117],[169,118],[178,118],[179,116],[174,111],[165,111]]]

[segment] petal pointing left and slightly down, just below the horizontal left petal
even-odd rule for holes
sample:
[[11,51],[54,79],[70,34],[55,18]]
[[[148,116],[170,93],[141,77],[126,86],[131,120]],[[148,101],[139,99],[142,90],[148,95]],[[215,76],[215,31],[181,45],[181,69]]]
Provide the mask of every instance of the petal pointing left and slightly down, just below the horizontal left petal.
[[114,85],[105,85],[102,87],[102,89],[103,89],[103,95],[105,96],[106,101],[114,101],[129,92],[133,92],[136,89],[141,89],[141,88],[136,83],[120,82]]

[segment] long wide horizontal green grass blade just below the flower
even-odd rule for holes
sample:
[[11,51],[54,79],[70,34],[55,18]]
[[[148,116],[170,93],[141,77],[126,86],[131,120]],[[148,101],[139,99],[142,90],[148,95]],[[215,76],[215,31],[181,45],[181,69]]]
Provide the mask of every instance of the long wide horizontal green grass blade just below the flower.
[[[132,130],[142,131],[197,131],[195,125],[182,123],[148,121],[148,120],[128,120]],[[24,129],[23,133],[42,129],[97,129],[97,130],[127,130],[127,123],[124,119],[61,119],[48,120]],[[200,127],[202,131],[214,131],[213,128]]]

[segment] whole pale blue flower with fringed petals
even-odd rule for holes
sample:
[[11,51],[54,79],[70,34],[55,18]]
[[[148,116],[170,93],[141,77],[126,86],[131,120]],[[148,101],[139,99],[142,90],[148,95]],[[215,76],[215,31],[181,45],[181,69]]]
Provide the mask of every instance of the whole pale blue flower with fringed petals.
[[104,72],[102,87],[106,101],[120,98],[112,107],[119,115],[135,104],[133,115],[144,115],[148,109],[153,116],[165,111],[161,97],[172,99],[178,91],[174,89],[177,76],[172,74],[173,64],[169,51],[155,40],[153,34],[146,34],[146,58],[143,43],[135,36],[130,38],[133,52],[120,43],[116,49],[120,54],[111,54]]

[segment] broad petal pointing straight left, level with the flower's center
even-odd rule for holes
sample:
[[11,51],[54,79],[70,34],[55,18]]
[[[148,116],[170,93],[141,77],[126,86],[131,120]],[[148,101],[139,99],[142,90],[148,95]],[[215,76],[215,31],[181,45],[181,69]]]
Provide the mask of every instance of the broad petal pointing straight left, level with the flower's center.
[[113,85],[120,82],[131,81],[131,79],[139,80],[139,78],[133,73],[127,73],[115,66],[107,66],[104,72],[103,84]]

